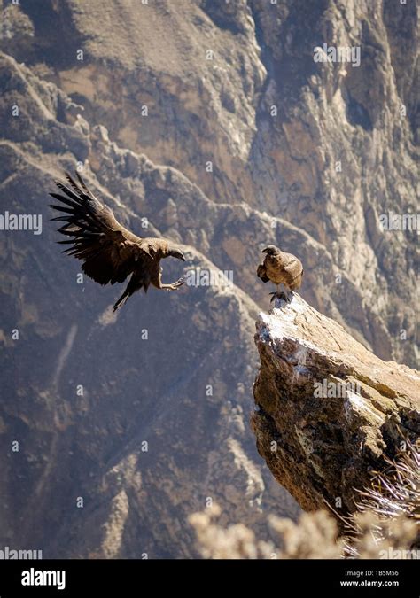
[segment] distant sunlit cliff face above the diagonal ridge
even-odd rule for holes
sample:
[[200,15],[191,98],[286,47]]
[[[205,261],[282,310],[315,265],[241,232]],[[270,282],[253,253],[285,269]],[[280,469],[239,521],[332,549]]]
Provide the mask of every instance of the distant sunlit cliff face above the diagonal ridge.
[[[379,217],[416,213],[416,19],[416,3],[393,0],[46,0],[7,7],[3,48],[91,126],[181,171],[214,212],[266,212],[257,240],[298,246],[311,305],[414,365],[417,234]],[[324,43],[359,62],[315,62]],[[201,224],[175,229],[261,304],[252,225],[211,243]]]

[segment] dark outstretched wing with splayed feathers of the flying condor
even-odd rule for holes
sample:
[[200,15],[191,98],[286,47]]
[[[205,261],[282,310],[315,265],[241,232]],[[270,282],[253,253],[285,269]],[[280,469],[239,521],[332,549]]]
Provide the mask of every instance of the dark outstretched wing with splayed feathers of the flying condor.
[[56,181],[63,195],[50,193],[60,202],[51,207],[61,213],[52,220],[64,221],[58,230],[69,237],[58,243],[70,245],[64,253],[82,260],[83,272],[97,283],[122,283],[134,268],[147,268],[152,260],[149,245],[121,226],[113,211],[93,195],[78,173],[76,176],[79,184],[66,174],[70,187]]

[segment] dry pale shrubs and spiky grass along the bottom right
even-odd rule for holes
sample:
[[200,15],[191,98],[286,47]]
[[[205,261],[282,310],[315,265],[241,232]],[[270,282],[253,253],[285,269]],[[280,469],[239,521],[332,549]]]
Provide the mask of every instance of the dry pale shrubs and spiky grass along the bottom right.
[[388,461],[389,468],[374,476],[371,488],[360,492],[358,511],[346,517],[346,538],[338,536],[338,525],[326,510],[304,513],[298,524],[270,516],[278,546],[258,540],[243,524],[218,525],[217,505],[190,516],[190,523],[205,558],[420,558],[419,464],[418,450],[410,443],[405,453]]

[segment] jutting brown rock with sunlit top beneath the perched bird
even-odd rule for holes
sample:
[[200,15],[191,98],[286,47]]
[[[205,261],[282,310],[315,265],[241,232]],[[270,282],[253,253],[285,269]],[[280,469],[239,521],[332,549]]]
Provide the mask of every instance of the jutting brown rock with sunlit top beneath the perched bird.
[[299,295],[257,322],[252,427],[302,509],[355,510],[356,489],[420,434],[418,372],[382,361]]

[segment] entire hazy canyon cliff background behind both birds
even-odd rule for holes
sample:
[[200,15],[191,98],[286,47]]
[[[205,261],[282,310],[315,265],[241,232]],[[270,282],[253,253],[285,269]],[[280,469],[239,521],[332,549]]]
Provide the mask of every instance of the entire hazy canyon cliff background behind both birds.
[[[415,197],[416,6],[355,4],[4,3],[2,206],[43,215],[40,236],[0,236],[4,545],[191,556],[208,499],[254,529],[297,512],[247,430],[261,243],[299,254],[316,309],[413,362],[416,233],[378,215]],[[315,63],[324,42],[360,43],[360,67]],[[48,223],[76,165],[138,234],[233,285],[110,315],[118,291],[78,283]]]

